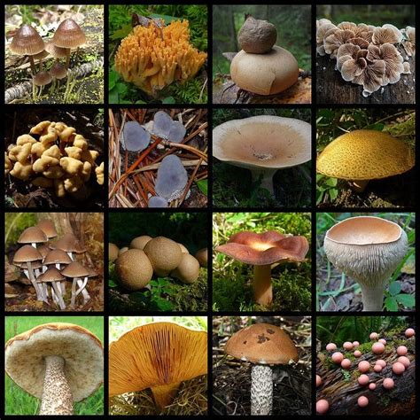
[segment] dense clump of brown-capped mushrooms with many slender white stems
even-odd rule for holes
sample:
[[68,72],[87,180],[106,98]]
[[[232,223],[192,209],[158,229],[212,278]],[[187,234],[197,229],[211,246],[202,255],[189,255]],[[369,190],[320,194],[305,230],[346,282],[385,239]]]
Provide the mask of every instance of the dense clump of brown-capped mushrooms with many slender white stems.
[[85,253],[86,249],[74,234],[66,233],[51,242],[57,236],[54,223],[50,220],[42,220],[37,226],[25,229],[18,239],[22,246],[14,254],[12,262],[23,270],[34,286],[37,300],[50,305],[51,295],[52,302],[63,310],[66,309],[66,280],[73,281],[70,307],[74,308],[75,300],[81,293],[83,304],[89,301],[88,277],[97,276],[97,273],[75,261],[74,253]]

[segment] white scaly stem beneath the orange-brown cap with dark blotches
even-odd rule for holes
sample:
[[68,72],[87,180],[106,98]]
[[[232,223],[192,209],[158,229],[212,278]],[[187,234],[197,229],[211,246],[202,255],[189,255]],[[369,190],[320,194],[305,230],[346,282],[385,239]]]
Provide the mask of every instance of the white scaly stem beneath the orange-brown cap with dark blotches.
[[273,370],[255,364],[251,369],[251,415],[268,416],[273,408]]

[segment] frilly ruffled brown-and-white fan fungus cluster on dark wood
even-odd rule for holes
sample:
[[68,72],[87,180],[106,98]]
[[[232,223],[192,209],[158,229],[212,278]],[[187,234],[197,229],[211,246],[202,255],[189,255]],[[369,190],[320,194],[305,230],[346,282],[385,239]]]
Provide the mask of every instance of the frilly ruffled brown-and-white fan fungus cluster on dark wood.
[[416,53],[416,29],[391,24],[374,27],[329,19],[316,21],[316,52],[337,60],[336,68],[346,82],[362,85],[363,97],[383,86],[400,82],[410,73]]

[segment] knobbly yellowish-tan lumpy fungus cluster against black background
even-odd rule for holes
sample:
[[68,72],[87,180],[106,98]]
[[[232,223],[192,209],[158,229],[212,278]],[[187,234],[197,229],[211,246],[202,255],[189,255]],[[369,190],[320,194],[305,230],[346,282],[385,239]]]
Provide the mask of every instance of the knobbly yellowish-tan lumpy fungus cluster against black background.
[[97,166],[99,152],[89,140],[64,122],[42,121],[19,136],[4,152],[4,175],[10,174],[36,187],[51,188],[58,198],[89,197],[88,184],[95,171],[104,183],[104,163]]

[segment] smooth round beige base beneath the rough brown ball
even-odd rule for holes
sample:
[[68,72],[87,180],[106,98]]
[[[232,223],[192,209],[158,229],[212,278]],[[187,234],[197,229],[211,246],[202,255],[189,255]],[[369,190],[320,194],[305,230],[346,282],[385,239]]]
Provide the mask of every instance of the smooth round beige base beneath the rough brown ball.
[[291,52],[277,45],[266,54],[241,50],[230,63],[230,77],[241,89],[275,95],[298,82],[299,66]]

